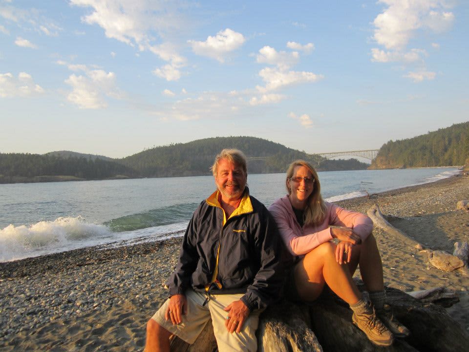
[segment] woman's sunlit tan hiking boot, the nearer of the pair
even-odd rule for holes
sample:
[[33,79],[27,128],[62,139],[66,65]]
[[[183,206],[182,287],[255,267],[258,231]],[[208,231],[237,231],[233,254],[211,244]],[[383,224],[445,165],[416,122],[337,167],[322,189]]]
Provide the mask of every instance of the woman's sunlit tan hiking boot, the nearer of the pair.
[[359,314],[354,312],[352,321],[375,345],[390,346],[394,341],[392,332],[384,326],[376,316],[375,310],[368,305],[364,312]]

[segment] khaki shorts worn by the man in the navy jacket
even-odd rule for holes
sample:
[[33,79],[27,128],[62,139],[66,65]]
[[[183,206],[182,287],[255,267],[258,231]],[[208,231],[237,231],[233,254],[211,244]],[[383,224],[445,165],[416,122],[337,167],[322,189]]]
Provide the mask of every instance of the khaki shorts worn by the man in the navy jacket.
[[210,295],[207,304],[203,306],[207,296],[189,289],[185,292],[187,299],[187,314],[182,316],[182,322],[173,325],[171,320],[165,319],[165,312],[169,305],[169,299],[151,317],[166,330],[175,334],[187,343],[194,343],[202,332],[205,324],[212,317],[213,333],[218,345],[218,351],[252,351],[257,350],[256,330],[259,324],[261,310],[253,310],[243,325],[241,332],[230,333],[225,327],[225,318],[228,312],[223,308],[234,301],[239,300],[243,294]]

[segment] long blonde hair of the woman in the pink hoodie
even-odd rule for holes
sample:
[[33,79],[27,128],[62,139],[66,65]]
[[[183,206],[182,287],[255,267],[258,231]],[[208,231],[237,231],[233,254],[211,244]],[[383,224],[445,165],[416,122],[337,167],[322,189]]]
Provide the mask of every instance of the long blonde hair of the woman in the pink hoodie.
[[295,160],[290,164],[287,170],[287,178],[285,180],[285,186],[287,187],[288,195],[292,193],[290,187],[288,187],[288,180],[292,178],[294,175],[295,168],[297,166],[304,166],[313,175],[314,178],[314,186],[313,192],[307,199],[306,208],[304,209],[304,223],[305,224],[317,224],[324,220],[326,216],[326,204],[324,204],[324,200],[321,197],[321,184],[319,182],[318,173],[314,169],[313,165],[305,160]]

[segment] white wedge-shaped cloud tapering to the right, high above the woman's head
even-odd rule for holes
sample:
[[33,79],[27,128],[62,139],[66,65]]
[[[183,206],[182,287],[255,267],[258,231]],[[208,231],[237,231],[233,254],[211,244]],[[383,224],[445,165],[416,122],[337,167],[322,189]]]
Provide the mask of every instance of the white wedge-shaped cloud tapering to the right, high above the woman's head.
[[291,86],[299,83],[316,82],[323,78],[313,72],[282,71],[277,68],[266,67],[259,71],[259,76],[266,83],[264,87],[257,87],[261,92]]

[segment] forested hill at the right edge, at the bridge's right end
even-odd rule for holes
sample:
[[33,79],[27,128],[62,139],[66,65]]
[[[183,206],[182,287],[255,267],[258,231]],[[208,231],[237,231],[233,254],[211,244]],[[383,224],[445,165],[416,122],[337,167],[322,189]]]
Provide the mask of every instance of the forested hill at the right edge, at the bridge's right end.
[[469,122],[385,143],[371,169],[464,165],[469,158]]

